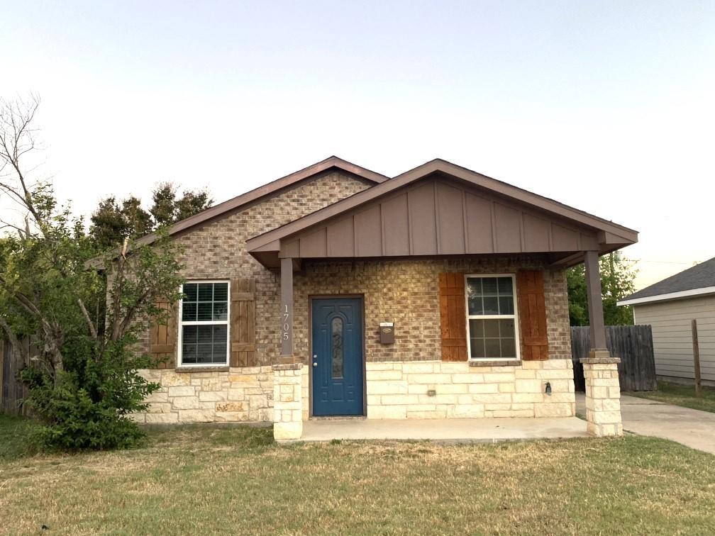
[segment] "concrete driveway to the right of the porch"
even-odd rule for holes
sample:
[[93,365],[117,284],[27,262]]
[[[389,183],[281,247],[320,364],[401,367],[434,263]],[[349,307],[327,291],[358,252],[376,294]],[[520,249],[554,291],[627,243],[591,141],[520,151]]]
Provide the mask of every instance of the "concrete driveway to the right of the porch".
[[[576,412],[586,415],[586,394],[576,393]],[[653,435],[715,454],[715,413],[621,395],[623,430]]]

